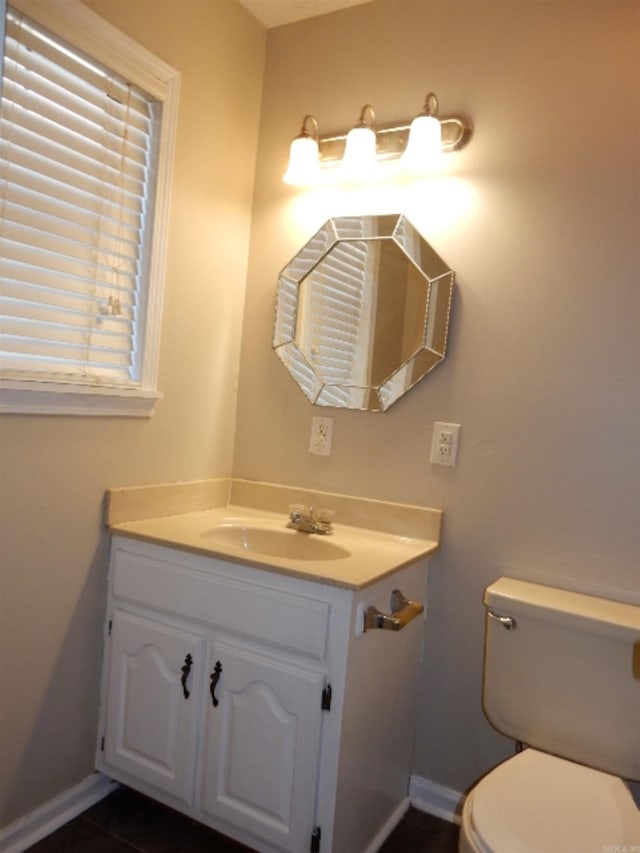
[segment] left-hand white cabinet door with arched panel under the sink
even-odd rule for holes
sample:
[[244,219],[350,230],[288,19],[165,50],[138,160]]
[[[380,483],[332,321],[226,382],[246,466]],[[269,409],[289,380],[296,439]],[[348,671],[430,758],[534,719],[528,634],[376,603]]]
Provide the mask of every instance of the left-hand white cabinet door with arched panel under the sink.
[[113,613],[104,761],[185,803],[193,799],[205,650],[197,633]]

